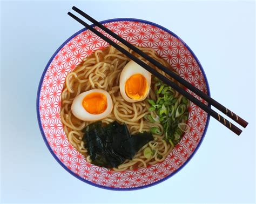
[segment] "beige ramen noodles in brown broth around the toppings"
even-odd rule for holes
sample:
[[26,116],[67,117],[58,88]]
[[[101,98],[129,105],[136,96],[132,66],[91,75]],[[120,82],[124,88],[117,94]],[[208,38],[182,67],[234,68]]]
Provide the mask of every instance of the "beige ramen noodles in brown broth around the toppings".
[[[127,49],[127,47],[123,47],[134,56],[140,58],[136,53]],[[164,66],[170,67],[164,59],[157,56],[156,51],[153,49],[140,47],[140,50],[147,53],[147,55],[156,59]],[[125,123],[131,134],[143,131],[150,132],[151,127],[159,128],[162,134],[153,134],[153,141],[144,145],[132,160],[126,160],[117,168],[113,168],[114,171],[124,171],[126,169],[140,168],[156,164],[157,162],[163,161],[172,151],[172,146],[169,142],[164,140],[163,126],[161,126],[160,123],[150,123],[144,119],[144,116],[149,114],[148,109],[150,104],[147,100],[128,103],[120,94],[120,73],[129,61],[129,58],[112,46],[107,47],[105,50],[97,50],[90,57],[84,59],[75,70],[66,76],[65,86],[61,95],[60,117],[64,126],[64,131],[66,135],[68,135],[70,143],[85,156],[88,162],[91,160],[87,150],[84,148],[82,130],[92,122],[79,120],[71,112],[73,99],[82,92],[91,89],[103,89],[109,92],[113,101],[113,110],[107,118],[102,120],[103,124],[112,123],[114,120],[119,123]],[[150,64],[148,62],[146,63]],[[153,65],[151,66],[154,67]],[[158,71],[165,75],[161,70]],[[151,83],[151,87],[152,86],[153,80]],[[147,98],[153,100],[156,99],[156,94],[152,89]],[[151,114],[156,113],[153,112]],[[146,159],[143,153],[146,147],[150,147],[153,152],[149,159]]]

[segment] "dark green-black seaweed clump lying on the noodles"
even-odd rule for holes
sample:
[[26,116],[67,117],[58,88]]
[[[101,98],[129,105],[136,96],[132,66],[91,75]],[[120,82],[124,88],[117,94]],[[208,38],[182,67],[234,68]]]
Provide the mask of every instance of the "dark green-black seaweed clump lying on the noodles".
[[84,129],[84,147],[92,164],[107,168],[117,167],[134,155],[147,142],[153,140],[152,133],[131,135],[126,124],[117,121],[103,127],[101,121],[87,125]]

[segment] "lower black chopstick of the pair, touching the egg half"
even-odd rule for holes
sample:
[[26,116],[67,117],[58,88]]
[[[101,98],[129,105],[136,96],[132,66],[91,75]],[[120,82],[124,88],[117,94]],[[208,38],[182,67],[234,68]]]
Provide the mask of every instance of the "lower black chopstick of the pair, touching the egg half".
[[130,59],[132,59],[134,62],[136,62],[137,64],[139,64],[140,66],[144,67],[144,69],[146,69],[147,71],[149,71],[150,73],[152,73],[154,76],[156,76],[157,78],[159,78],[160,80],[162,80],[165,84],[171,86],[173,89],[175,89],[176,91],[178,91],[181,95],[183,95],[184,97],[186,97],[188,100],[190,100],[192,103],[196,104],[197,106],[199,106],[202,110],[204,110],[205,112],[207,112],[208,114],[210,114],[213,118],[215,118],[216,120],[218,120],[221,124],[223,124],[224,126],[226,126],[228,129],[230,129],[231,131],[233,131],[235,134],[240,135],[241,134],[241,130],[235,126],[234,124],[232,124],[230,121],[226,120],[224,117],[222,117],[221,115],[219,115],[217,112],[215,112],[214,110],[211,109],[210,106],[205,105],[204,103],[202,103],[200,100],[198,100],[197,98],[195,98],[194,96],[192,96],[190,93],[186,92],[184,89],[182,89],[181,87],[179,87],[176,83],[174,83],[173,81],[171,81],[170,79],[166,78],[165,76],[163,76],[161,73],[159,73],[157,70],[153,69],[151,66],[147,65],[146,63],[144,63],[142,60],[140,60],[139,58],[133,56],[130,52],[126,51],[123,47],[119,46],[118,44],[114,43],[111,39],[107,38],[106,36],[104,36],[102,33],[100,33],[99,31],[97,31],[96,29],[94,29],[92,26],[90,26],[89,24],[85,23],[84,21],[82,21],[82,19],[78,18],[77,16],[73,15],[73,13],[68,12],[68,15],[71,16],[73,19],[75,19],[77,22],[79,22],[80,24],[84,25],[87,29],[89,29],[90,31],[92,31],[93,33],[95,33],[97,36],[99,36],[100,38],[102,38],[103,40],[105,40],[107,43],[109,43],[110,45],[112,45],[113,47],[115,47],[117,50],[119,50],[120,52],[122,52],[125,56],[129,57]]

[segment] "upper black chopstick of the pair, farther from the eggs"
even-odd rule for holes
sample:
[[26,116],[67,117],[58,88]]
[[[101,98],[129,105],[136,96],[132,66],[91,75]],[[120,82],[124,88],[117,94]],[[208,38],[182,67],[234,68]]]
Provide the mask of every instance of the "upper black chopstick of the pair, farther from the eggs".
[[106,33],[109,33],[109,35],[111,35],[112,37],[116,38],[119,42],[123,43],[124,45],[129,47],[131,50],[133,50],[134,52],[138,53],[140,56],[142,56],[143,58],[145,58],[146,60],[151,62],[153,65],[157,66],[160,70],[163,70],[170,77],[172,77],[173,79],[179,81],[180,84],[184,85],[185,87],[187,87],[187,89],[189,89],[189,90],[193,91],[194,93],[196,93],[199,97],[201,97],[204,100],[206,100],[208,103],[213,105],[219,111],[221,111],[224,114],[226,114],[228,117],[233,119],[235,122],[237,122],[242,127],[246,127],[248,125],[247,121],[245,121],[244,119],[240,118],[237,114],[233,113],[228,108],[226,108],[225,106],[221,105],[218,101],[214,100],[213,98],[211,98],[210,96],[205,94],[203,91],[197,89],[197,87],[195,87],[192,84],[188,83],[188,81],[186,81],[185,79],[180,77],[178,74],[176,74],[175,72],[171,71],[170,69],[168,69],[167,67],[165,67],[164,65],[159,63],[157,60],[155,60],[152,57],[148,56],[145,52],[143,52],[142,50],[138,49],[136,46],[134,46],[131,43],[127,42],[125,39],[123,39],[122,37],[118,36],[116,33],[112,32],[110,29],[106,28],[104,25],[100,24],[94,18],[92,18],[91,16],[87,15],[87,13],[85,13],[84,11],[78,9],[76,6],[73,6],[72,9],[75,10],[76,12],[78,12],[80,15],[82,15],[86,19],[88,19],[90,22],[92,22],[96,26],[98,26],[100,29],[104,30]]

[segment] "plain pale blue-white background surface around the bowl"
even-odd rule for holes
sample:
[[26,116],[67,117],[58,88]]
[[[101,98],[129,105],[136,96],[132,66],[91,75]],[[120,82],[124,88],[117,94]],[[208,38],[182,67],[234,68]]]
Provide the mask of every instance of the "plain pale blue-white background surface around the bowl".
[[[254,202],[255,3],[171,1],[1,2],[1,202]],[[211,119],[203,144],[176,175],[116,192],[66,172],[39,132],[36,92],[45,65],[82,26],[72,5],[99,21],[130,17],[170,29],[196,53],[211,96],[245,118],[237,137]]]

